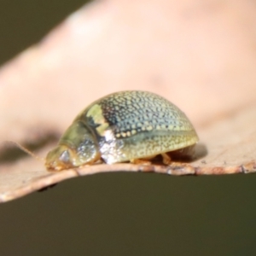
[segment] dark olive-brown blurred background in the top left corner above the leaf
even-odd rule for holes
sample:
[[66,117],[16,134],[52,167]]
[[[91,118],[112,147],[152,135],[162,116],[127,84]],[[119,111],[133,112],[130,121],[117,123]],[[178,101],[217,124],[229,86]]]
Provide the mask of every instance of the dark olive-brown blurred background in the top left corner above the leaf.
[[0,63],[9,61],[20,51],[38,43],[50,29],[84,1],[2,0],[0,2]]

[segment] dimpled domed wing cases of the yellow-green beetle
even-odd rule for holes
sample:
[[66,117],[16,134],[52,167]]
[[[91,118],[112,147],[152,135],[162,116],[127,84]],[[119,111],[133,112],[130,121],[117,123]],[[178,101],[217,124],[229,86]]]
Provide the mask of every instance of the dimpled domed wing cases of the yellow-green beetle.
[[95,132],[102,159],[108,164],[143,159],[198,141],[194,127],[181,110],[146,91],[103,97],[76,120],[83,120]]

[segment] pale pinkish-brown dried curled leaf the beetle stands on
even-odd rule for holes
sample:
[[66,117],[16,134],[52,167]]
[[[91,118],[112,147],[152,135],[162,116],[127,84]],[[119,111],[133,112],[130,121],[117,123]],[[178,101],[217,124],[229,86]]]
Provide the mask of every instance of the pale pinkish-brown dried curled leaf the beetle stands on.
[[97,172],[255,172],[255,10],[251,1],[102,1],[71,15],[0,70],[0,141],[22,143],[44,156],[98,97],[150,90],[195,124],[201,137],[195,159],[50,173],[44,163],[3,143],[0,201]]

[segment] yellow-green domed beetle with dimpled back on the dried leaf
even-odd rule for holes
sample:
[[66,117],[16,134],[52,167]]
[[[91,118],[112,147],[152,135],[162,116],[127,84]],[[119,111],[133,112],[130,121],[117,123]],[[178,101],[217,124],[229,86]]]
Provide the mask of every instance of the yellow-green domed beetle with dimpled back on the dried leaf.
[[107,164],[141,160],[198,142],[186,115],[165,98],[147,91],[120,91],[85,108],[47,154],[49,171],[97,160]]

